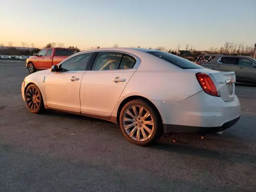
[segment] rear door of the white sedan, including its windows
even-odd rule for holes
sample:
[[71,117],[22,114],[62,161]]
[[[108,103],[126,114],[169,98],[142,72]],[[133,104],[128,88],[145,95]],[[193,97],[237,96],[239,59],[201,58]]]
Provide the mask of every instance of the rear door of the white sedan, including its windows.
[[137,70],[135,62],[134,57],[121,52],[98,52],[92,69],[82,78],[81,113],[108,119]]

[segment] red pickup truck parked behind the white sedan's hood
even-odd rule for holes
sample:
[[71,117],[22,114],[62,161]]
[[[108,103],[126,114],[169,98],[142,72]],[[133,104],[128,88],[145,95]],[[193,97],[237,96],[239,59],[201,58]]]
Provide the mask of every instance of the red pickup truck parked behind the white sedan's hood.
[[26,67],[29,73],[50,69],[74,53],[74,50],[67,48],[44,48],[26,60]]

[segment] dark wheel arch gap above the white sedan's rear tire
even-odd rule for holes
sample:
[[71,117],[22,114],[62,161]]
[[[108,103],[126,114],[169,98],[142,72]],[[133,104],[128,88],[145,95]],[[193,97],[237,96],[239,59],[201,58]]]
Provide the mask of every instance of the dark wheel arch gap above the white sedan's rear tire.
[[119,124],[119,117],[121,114],[121,110],[124,107],[124,105],[132,100],[136,100],[136,99],[141,99],[144,100],[145,102],[147,102],[150,106],[152,106],[152,108],[154,108],[154,110],[156,111],[156,113],[158,114],[158,116],[160,117],[160,120],[162,122],[162,116],[158,110],[158,108],[147,98],[143,97],[143,96],[138,96],[138,95],[133,95],[133,96],[128,96],[127,98],[125,98],[120,105],[118,106],[118,110],[117,110],[117,115],[116,115],[116,122]]

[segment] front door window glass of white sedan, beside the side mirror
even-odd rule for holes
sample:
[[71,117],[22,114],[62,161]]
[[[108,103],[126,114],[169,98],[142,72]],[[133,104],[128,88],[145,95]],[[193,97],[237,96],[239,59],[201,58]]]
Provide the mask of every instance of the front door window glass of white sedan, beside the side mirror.
[[88,61],[92,53],[74,56],[61,64],[60,71],[84,71],[87,69]]

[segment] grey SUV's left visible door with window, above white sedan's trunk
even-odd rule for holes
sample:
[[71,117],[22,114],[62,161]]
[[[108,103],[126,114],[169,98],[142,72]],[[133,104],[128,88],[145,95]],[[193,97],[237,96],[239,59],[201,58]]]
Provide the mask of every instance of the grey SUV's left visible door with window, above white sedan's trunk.
[[236,73],[237,60],[236,57],[222,56],[216,62],[214,70],[218,71],[234,71]]

